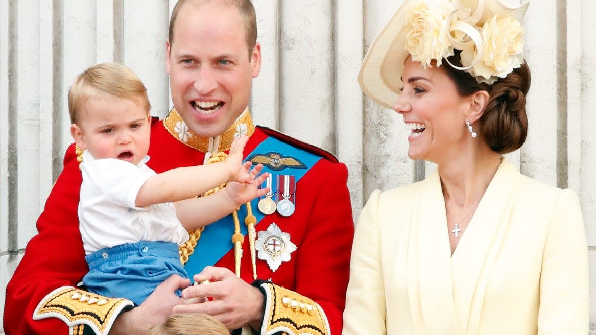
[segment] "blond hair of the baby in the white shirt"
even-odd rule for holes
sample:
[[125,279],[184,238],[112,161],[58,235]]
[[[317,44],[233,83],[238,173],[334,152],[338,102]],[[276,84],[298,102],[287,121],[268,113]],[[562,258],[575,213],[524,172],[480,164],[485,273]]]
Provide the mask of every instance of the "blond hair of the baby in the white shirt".
[[118,63],[101,63],[83,71],[70,86],[70,122],[77,122],[79,112],[87,100],[106,96],[131,100],[141,98],[147,113],[151,109],[147,88],[131,69]]

